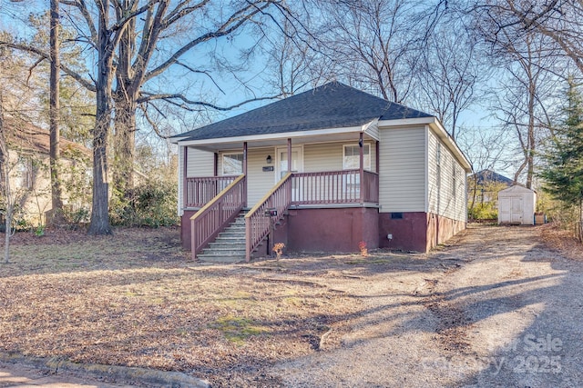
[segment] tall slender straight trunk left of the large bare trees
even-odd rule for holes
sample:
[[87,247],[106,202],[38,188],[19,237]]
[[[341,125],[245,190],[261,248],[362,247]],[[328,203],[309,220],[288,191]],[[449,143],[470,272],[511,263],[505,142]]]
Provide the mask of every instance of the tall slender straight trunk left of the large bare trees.
[[50,18],[50,103],[49,103],[49,120],[50,120],[50,171],[51,171],[51,222],[60,224],[63,219],[63,190],[61,186],[59,167],[60,167],[60,133],[59,133],[59,75],[61,64],[59,58],[59,8],[58,0],[51,0],[51,18]]

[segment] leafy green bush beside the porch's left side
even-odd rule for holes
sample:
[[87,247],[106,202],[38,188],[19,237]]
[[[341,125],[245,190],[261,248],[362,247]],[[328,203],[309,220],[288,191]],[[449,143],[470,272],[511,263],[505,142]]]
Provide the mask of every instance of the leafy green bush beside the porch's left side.
[[124,194],[113,194],[109,204],[111,224],[169,226],[179,223],[178,188],[174,182],[147,181]]

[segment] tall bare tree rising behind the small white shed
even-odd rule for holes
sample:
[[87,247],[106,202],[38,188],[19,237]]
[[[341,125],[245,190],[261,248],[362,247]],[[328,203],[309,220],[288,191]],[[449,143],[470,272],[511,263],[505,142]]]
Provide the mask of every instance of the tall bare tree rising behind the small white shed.
[[[546,35],[537,34],[517,20],[514,5],[501,0],[476,8],[475,26],[489,48],[490,62],[503,70],[492,88],[496,116],[516,134],[518,162],[515,182],[526,174],[531,188],[535,177],[537,145],[552,124],[551,98],[564,72],[560,50]],[[533,5],[535,6],[535,5]],[[554,5],[540,5],[540,17]],[[535,8],[532,8],[533,10]],[[546,11],[545,11],[546,10]],[[559,65],[561,64],[561,65]]]

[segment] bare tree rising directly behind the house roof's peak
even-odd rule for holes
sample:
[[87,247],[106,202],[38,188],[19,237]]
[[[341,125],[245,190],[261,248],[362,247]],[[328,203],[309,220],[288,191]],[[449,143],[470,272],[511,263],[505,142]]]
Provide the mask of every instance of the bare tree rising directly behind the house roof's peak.
[[425,36],[421,3],[407,0],[321,2],[322,37],[334,72],[349,84],[404,102]]

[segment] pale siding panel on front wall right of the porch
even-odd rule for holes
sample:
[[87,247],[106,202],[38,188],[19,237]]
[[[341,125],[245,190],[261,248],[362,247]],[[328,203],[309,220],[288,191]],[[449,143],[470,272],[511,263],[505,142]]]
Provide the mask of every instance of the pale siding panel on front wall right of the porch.
[[425,211],[424,127],[380,128],[382,213]]

